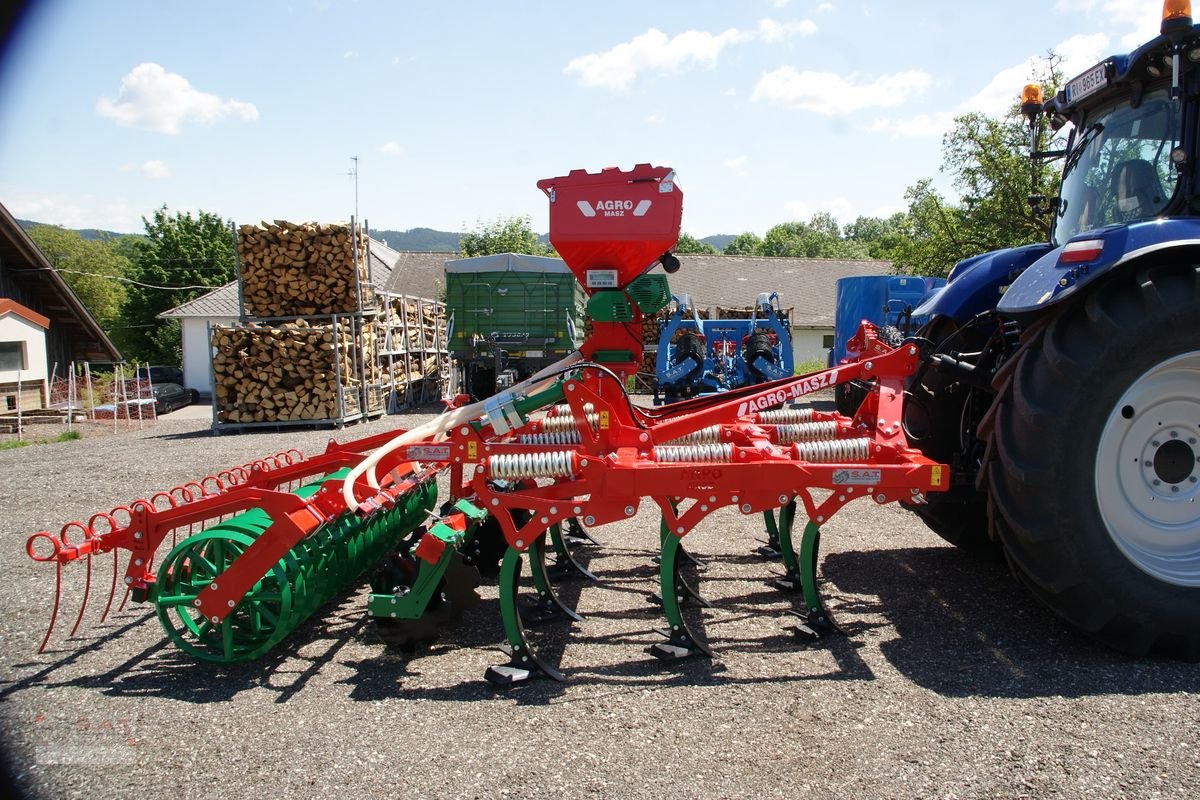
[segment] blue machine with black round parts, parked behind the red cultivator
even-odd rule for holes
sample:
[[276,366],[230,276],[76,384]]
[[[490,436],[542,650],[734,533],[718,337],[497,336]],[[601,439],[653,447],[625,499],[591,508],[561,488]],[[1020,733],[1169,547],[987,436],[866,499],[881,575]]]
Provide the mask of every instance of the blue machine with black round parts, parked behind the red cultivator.
[[779,295],[758,295],[749,319],[701,319],[688,295],[659,333],[654,404],[786,378],[796,369]]

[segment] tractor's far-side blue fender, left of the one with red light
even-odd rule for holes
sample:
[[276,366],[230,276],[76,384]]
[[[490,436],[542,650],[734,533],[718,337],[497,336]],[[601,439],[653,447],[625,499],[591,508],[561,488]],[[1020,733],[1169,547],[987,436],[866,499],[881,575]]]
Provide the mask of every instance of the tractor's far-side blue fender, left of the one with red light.
[[964,259],[950,270],[944,287],[922,299],[913,317],[949,317],[964,324],[991,311],[1013,281],[1050,249],[1051,246],[1043,242]]

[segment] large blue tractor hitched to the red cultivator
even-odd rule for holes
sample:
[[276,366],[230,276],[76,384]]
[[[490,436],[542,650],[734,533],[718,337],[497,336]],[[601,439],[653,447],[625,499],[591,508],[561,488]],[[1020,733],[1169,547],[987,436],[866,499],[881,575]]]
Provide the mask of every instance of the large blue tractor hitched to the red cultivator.
[[905,428],[950,463],[913,510],[1002,548],[1050,608],[1120,650],[1200,660],[1200,26],[1162,34],[1043,102],[1064,148],[1050,240],[954,265],[916,314]]

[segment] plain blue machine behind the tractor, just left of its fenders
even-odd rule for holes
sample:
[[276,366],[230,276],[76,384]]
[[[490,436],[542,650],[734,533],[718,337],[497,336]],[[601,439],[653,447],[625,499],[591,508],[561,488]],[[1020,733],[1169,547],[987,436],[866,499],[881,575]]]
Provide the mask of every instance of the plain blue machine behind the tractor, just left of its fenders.
[[911,275],[839,278],[829,366],[846,357],[846,342],[854,336],[858,324],[864,319],[878,327],[890,325],[906,336],[924,325],[929,317],[916,315],[913,309],[925,295],[943,285],[944,278]]

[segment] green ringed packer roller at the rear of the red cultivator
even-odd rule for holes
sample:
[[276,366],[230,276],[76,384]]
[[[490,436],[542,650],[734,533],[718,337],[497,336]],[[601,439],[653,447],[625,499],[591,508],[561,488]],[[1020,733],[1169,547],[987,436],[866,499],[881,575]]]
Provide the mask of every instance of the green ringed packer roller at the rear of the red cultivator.
[[[323,483],[343,480],[341,469],[298,488],[310,498]],[[254,583],[233,612],[212,624],[194,608],[199,594],[271,525],[251,509],[188,536],[158,567],[150,600],[167,637],[191,656],[214,662],[250,661],[274,648],[318,608],[394,552],[428,516],[437,483],[426,480],[396,504],[366,519],[343,513],[293,546]]]

